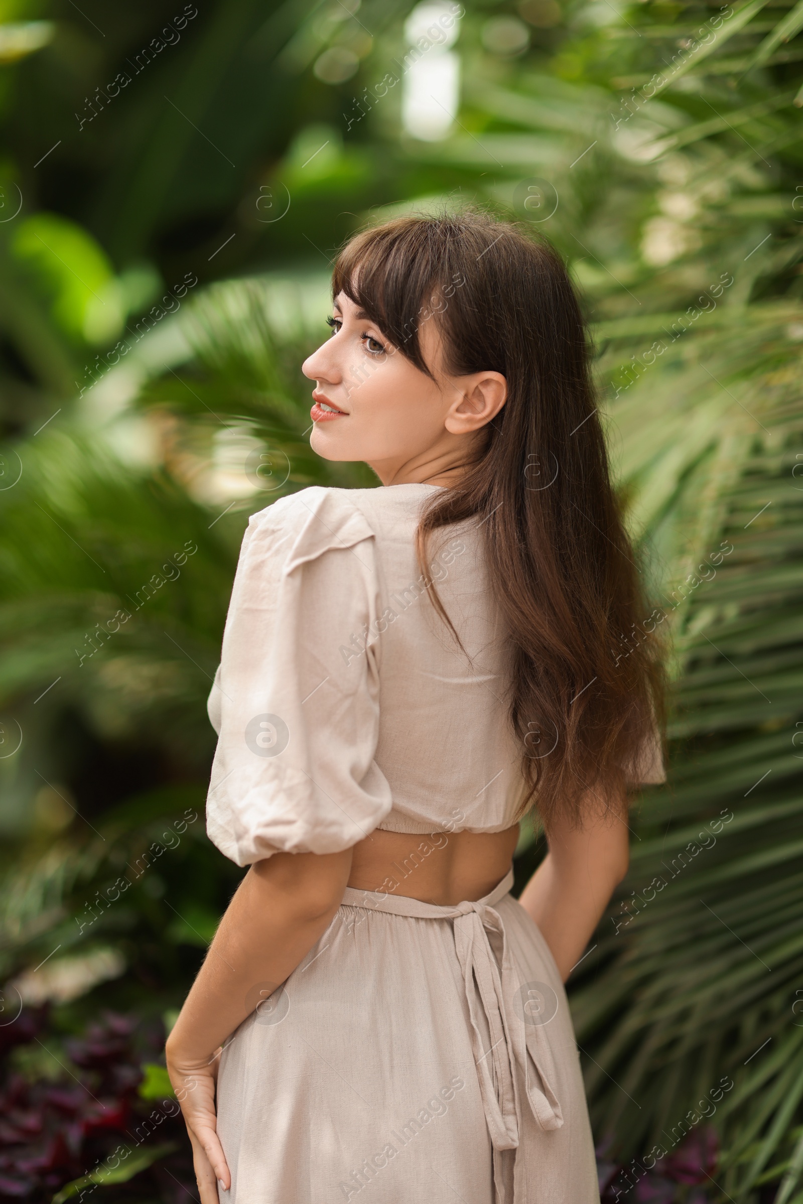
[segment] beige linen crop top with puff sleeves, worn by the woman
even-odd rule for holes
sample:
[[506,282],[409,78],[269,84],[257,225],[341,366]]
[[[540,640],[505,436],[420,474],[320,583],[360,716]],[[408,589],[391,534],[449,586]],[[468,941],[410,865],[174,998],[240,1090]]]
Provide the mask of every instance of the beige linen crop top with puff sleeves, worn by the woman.
[[[374,828],[501,832],[522,801],[504,643],[476,523],[415,559],[438,485],[303,489],[243,537],[208,713],[207,832],[238,866],[336,852]],[[467,654],[467,655],[466,655]],[[657,744],[638,780],[663,781]]]

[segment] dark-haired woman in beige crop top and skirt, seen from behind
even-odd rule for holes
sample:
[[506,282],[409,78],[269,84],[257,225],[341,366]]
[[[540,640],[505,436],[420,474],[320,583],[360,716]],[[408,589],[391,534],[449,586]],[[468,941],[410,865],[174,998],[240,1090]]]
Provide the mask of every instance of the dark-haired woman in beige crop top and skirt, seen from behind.
[[591,1204],[562,984],[663,771],[577,300],[473,213],[356,236],[332,295],[312,447],[382,486],[243,539],[207,825],[250,868],[167,1041],[201,1202]]

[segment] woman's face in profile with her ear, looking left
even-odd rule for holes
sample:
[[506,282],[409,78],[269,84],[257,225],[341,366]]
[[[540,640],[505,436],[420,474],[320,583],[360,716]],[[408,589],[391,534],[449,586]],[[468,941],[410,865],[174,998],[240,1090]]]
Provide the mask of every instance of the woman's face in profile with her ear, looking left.
[[312,449],[325,460],[362,460],[385,485],[448,484],[467,442],[504,403],[504,377],[439,371],[441,337],[429,320],[419,329],[419,341],[432,379],[344,293],[335,301],[330,323],[331,337],[302,365],[317,384]]

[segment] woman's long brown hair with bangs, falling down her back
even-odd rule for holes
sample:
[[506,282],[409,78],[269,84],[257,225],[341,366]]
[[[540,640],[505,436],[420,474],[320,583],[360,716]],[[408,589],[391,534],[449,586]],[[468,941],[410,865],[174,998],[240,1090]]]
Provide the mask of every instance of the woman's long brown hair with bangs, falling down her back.
[[[346,246],[332,277],[333,296],[341,291],[427,376],[419,330],[432,318],[447,372],[507,378],[507,401],[459,483],[427,501],[419,561],[425,571],[439,527],[482,524],[507,631],[521,814],[536,801],[547,828],[557,815],[579,822],[586,791],[615,805],[662,722],[662,669],[655,637],[631,647],[649,610],[560,255],[482,212],[405,217]],[[435,603],[448,621],[437,595]]]

